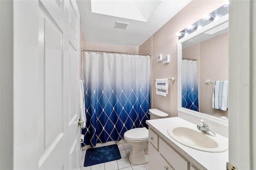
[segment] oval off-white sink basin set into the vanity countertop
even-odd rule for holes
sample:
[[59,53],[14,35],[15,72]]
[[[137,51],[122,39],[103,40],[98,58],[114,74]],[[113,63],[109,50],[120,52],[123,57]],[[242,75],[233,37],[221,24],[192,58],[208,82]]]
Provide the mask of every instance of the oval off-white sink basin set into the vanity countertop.
[[216,134],[210,136],[195,126],[174,125],[168,128],[168,134],[171,138],[196,150],[205,152],[225,152],[228,150],[228,138]]

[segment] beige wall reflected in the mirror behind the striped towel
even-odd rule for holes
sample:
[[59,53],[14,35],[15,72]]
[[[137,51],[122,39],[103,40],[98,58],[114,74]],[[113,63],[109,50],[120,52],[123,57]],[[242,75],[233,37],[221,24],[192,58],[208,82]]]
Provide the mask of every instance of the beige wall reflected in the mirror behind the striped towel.
[[205,83],[206,79],[228,80],[228,44],[228,33],[200,43],[200,112],[202,113],[228,117],[228,111],[212,109],[213,84]]

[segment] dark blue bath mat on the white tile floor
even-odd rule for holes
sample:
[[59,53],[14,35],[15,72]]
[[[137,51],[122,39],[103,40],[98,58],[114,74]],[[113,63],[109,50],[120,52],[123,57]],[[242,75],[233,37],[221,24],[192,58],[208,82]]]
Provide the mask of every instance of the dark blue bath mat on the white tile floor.
[[84,166],[92,166],[121,159],[117,144],[90,148],[85,152]]

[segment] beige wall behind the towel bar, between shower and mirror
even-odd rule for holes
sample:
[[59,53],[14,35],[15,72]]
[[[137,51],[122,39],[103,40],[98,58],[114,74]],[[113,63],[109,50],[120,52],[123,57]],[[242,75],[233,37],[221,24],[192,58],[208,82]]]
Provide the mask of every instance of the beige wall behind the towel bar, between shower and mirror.
[[[169,94],[164,97],[156,95],[154,79],[175,77],[177,80],[177,40],[176,32],[199,20],[204,13],[210,13],[224,4],[224,0],[192,0],[162,28],[152,36],[152,95],[151,108],[160,109],[170,117],[178,115],[177,81],[169,82]],[[146,43],[146,42],[145,42]],[[144,46],[142,44],[141,46]],[[170,63],[156,62],[156,55],[170,55]]]

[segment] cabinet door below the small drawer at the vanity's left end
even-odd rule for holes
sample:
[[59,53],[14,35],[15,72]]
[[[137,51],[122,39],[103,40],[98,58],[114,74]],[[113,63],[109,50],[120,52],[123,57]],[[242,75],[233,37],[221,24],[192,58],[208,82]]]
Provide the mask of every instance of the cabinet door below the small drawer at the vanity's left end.
[[148,143],[148,169],[149,170],[172,170],[152,143]]

